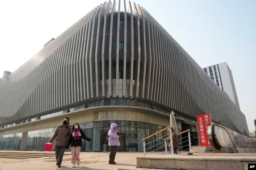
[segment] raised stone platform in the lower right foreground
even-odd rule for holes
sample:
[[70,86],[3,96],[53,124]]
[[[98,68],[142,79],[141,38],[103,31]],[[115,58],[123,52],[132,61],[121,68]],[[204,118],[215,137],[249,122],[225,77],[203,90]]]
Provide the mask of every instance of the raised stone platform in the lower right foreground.
[[[137,168],[180,170],[248,170],[256,164],[256,154],[178,154],[149,155],[137,157]],[[120,169],[119,170],[123,170]],[[127,170],[127,169],[126,169]],[[139,169],[138,169],[139,170]]]

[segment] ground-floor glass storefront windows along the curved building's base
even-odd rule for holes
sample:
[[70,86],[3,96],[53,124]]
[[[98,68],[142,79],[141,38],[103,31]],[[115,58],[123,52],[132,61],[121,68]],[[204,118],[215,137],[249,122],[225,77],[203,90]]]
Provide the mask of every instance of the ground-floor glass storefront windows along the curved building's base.
[[[120,136],[121,146],[117,148],[117,151],[126,151],[126,152],[135,152],[143,151],[143,141],[145,137],[156,133],[159,130],[162,130],[163,126],[158,126],[155,124],[150,124],[146,122],[137,122],[137,121],[95,121],[80,123],[80,128],[83,129],[83,132],[91,138],[91,141],[85,141],[82,139],[81,151],[83,152],[102,152],[103,145],[106,144],[106,136],[110,129],[111,123],[117,123],[118,125],[118,135]],[[42,130],[33,130],[26,132],[27,137],[25,139],[26,146],[22,146],[21,150],[37,150],[41,151],[44,148],[44,144],[47,143],[55,132],[56,128],[48,128]],[[11,135],[0,136],[0,150],[19,150],[20,141],[22,135],[26,134],[17,133]],[[155,137],[146,140],[146,143],[154,141],[156,138],[164,135],[163,133],[158,134]],[[56,140],[53,141],[55,144]],[[154,141],[154,144],[151,146],[160,143],[161,141]],[[24,143],[24,142],[22,142]],[[108,143],[107,143],[108,144]],[[150,147],[150,146],[149,146]],[[151,150],[155,150],[152,148]],[[55,150],[55,148],[54,148]],[[107,147],[109,151],[109,147]]]

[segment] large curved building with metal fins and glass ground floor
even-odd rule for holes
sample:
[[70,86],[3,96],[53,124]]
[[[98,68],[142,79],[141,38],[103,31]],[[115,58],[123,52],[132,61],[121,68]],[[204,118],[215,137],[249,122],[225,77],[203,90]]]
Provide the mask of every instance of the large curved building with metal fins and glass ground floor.
[[[119,2],[119,4],[121,4]],[[139,5],[100,4],[0,80],[0,150],[42,150],[64,117],[101,151],[112,122],[121,151],[170,125],[211,121],[249,136],[245,115],[167,31]]]

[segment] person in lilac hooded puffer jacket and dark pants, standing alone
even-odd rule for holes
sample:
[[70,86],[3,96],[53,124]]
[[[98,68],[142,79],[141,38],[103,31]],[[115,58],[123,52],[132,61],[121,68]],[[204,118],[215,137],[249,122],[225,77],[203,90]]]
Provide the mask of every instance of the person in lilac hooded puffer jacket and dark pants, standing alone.
[[109,146],[109,164],[115,165],[115,155],[117,153],[117,146],[119,146],[119,135],[117,135],[117,124],[112,123],[108,131],[108,146]]

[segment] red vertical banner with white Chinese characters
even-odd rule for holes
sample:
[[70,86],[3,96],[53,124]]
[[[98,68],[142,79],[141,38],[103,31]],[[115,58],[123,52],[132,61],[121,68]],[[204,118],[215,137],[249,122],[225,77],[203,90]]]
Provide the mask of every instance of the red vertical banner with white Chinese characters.
[[197,115],[200,146],[211,146],[208,138],[208,126],[211,125],[210,114]]

